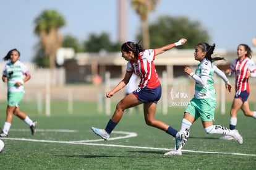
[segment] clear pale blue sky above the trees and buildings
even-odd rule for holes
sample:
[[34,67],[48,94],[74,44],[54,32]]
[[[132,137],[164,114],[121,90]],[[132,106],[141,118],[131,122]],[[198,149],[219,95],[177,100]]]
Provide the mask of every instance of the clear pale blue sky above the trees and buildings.
[[[79,41],[88,40],[88,35],[108,33],[111,41],[118,38],[118,0],[0,0],[0,58],[10,49],[17,48],[20,61],[30,62],[35,54],[35,45],[40,41],[35,35],[34,20],[46,9],[58,11],[66,20],[60,29],[62,35],[72,35]],[[139,15],[127,0],[127,41],[135,41],[140,32]],[[149,22],[158,17],[186,16],[190,21],[199,21],[207,30],[216,48],[236,51],[240,43],[251,48],[256,38],[256,1],[254,0],[159,0]],[[184,35],[186,38],[186,35]],[[178,40],[170,40],[173,43]],[[200,43],[200,42],[198,42]],[[1,60],[2,62],[2,60]]]

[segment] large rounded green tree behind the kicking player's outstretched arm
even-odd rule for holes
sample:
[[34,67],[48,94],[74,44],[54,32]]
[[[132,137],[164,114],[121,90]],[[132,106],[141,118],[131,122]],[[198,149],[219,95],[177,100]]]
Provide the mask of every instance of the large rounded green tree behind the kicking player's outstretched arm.
[[[187,43],[178,48],[195,48],[200,42],[209,42],[207,30],[198,21],[190,21],[188,17],[162,16],[149,25],[150,48],[158,48],[168,43],[187,38]],[[137,35],[141,40],[142,33]]]

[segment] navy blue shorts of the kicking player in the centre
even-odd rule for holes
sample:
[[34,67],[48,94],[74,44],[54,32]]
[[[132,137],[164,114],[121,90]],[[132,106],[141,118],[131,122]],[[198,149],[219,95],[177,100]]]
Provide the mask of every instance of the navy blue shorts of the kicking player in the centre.
[[143,103],[149,103],[149,102],[157,103],[158,100],[160,100],[161,98],[162,88],[161,88],[161,85],[159,85],[156,88],[148,88],[146,86],[144,88],[138,88],[132,93],[134,93],[137,99],[142,101]]

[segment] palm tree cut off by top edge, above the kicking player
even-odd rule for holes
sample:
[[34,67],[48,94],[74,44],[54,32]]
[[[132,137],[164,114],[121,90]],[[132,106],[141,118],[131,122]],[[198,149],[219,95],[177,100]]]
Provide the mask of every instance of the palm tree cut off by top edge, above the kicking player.
[[132,0],[132,7],[140,15],[142,20],[142,37],[143,48],[147,49],[150,45],[149,31],[148,31],[148,13],[155,10],[158,0]]

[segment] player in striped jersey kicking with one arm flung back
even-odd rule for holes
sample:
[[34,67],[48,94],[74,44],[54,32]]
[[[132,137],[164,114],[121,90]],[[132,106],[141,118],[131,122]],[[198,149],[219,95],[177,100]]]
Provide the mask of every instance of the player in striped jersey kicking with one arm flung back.
[[112,118],[109,119],[105,129],[92,127],[96,135],[99,135],[104,140],[108,140],[112,130],[121,120],[124,110],[143,103],[144,117],[147,125],[164,130],[169,135],[180,140],[182,139],[184,135],[179,134],[173,127],[154,118],[156,103],[158,103],[161,97],[161,84],[153,61],[158,54],[164,53],[175,46],[184,45],[186,41],[185,38],[182,38],[177,43],[171,43],[156,49],[142,49],[139,43],[130,41],[121,46],[122,57],[128,61],[126,75],[113,90],[106,92],[106,97],[111,98],[117,91],[124,88],[133,73],[140,77],[139,88],[117,103],[116,111],[114,111]]

